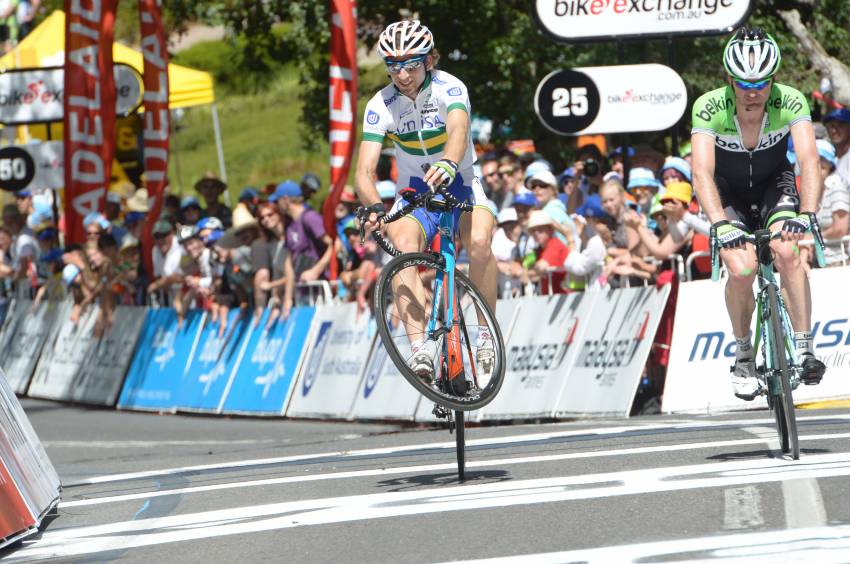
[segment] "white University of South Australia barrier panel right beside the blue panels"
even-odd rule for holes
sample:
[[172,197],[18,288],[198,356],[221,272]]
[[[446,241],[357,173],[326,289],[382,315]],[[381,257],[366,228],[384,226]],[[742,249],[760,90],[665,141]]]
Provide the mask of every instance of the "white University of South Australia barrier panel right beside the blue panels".
[[370,316],[357,304],[316,309],[313,337],[286,414],[290,417],[347,418],[369,360]]

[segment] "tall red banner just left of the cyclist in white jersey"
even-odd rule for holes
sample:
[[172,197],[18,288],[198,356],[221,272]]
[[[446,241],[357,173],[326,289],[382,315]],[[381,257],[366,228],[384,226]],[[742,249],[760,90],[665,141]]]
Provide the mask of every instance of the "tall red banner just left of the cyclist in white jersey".
[[[354,152],[357,113],[357,3],[355,0],[331,2],[330,64],[330,135],[331,186],[322,212],[325,230],[336,237],[334,210],[339,203]],[[336,278],[336,261],[331,261]]]

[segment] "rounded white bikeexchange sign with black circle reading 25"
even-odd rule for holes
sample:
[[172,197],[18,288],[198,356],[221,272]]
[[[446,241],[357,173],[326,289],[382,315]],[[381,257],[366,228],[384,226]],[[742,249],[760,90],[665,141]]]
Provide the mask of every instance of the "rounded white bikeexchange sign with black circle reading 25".
[[675,125],[687,105],[682,77],[659,64],[558,70],[534,95],[537,117],[560,135],[661,131]]

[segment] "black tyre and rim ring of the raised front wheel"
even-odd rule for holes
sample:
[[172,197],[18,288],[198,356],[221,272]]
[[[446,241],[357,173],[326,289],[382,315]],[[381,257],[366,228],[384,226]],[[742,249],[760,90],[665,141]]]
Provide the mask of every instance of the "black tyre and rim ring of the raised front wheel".
[[435,386],[425,384],[407,365],[406,359],[393,338],[393,328],[387,322],[389,308],[394,301],[392,299],[392,281],[405,268],[424,268],[434,272],[444,272],[443,267],[437,260],[437,256],[429,253],[405,253],[399,255],[387,263],[381,271],[375,287],[375,321],[378,326],[378,334],[381,336],[381,341],[393,364],[395,364],[401,375],[419,393],[433,402],[457,411],[472,411],[484,407],[496,397],[496,394],[498,394],[502,387],[505,376],[505,343],[499,325],[496,323],[495,314],[469,278],[463,272],[455,270],[455,286],[460,286],[463,289],[464,295],[472,298],[474,305],[479,308],[490,329],[495,353],[493,371],[486,386],[475,390],[467,396],[457,396],[441,391]]

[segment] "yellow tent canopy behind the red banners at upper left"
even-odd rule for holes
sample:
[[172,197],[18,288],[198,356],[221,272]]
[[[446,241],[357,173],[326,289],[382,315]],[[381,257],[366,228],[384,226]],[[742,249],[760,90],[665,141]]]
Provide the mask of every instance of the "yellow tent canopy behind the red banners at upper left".
[[[120,43],[112,46],[112,58],[142,72],[142,54]],[[0,57],[0,70],[52,67],[65,64],[65,12],[54,10],[17,47]],[[209,73],[168,65],[168,106],[186,108],[215,102],[213,80]]]

